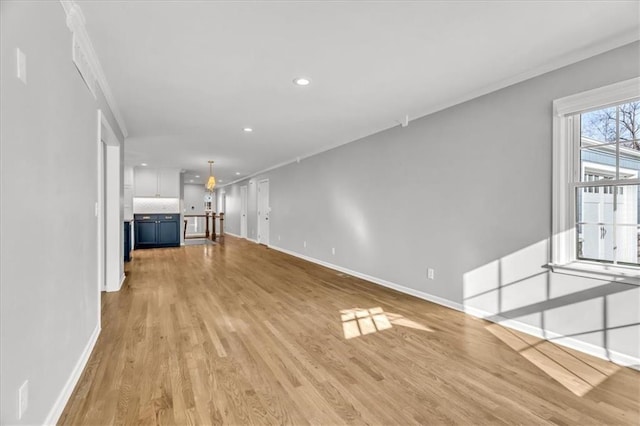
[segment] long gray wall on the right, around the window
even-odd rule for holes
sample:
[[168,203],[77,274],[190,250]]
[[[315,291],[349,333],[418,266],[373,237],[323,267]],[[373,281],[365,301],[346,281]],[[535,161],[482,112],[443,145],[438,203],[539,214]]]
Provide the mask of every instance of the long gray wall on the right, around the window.
[[638,358],[640,288],[542,265],[552,101],[640,75],[639,52],[636,42],[227,186],[226,230],[240,233],[248,185],[255,238],[255,187],[268,178],[273,246]]

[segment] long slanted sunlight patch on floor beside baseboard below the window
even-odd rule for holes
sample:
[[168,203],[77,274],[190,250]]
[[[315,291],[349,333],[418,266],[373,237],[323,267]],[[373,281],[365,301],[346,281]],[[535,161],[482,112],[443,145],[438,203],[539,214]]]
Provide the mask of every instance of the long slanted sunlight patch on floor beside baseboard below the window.
[[500,324],[486,329],[552,379],[578,396],[586,395],[620,369],[617,365]]

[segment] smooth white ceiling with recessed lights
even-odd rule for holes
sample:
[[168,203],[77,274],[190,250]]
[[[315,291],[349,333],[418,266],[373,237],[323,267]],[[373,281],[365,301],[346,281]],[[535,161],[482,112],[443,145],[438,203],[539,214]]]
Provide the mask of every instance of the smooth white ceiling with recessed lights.
[[201,182],[210,159],[228,183],[640,38],[638,1],[78,3],[126,163]]

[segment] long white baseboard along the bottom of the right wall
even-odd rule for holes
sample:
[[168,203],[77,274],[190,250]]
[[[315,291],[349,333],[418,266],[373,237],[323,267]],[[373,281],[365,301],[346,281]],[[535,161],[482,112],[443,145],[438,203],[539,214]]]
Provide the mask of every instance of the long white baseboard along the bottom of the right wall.
[[551,339],[553,341],[553,343],[557,343],[558,345],[561,346],[566,346],[568,348],[571,349],[575,349],[577,351],[580,352],[584,352],[586,354],[589,355],[593,355],[597,358],[601,358],[607,361],[611,361],[614,362],[616,364],[619,365],[623,365],[625,367],[631,367],[634,368],[636,370],[640,370],[640,358],[636,358],[630,355],[626,355],[620,352],[615,352],[615,351],[611,351],[611,350],[607,350],[601,346],[597,346],[591,343],[586,343],[583,342],[581,340],[577,340],[575,338],[572,337],[564,337],[561,334],[558,333],[554,333],[552,331],[548,331],[548,330],[543,330],[539,327],[535,327],[529,324],[525,324],[523,322],[514,320],[514,319],[509,319],[509,318],[503,318],[500,317],[499,315],[496,314],[492,314],[490,312],[484,312],[482,310],[479,309],[475,309],[475,308],[471,308],[471,307],[465,307],[460,303],[457,302],[453,302],[451,300],[448,299],[444,299],[442,297],[438,297],[438,296],[434,296],[432,294],[428,294],[428,293],[424,293],[422,291],[410,288],[410,287],[405,287],[396,283],[392,283],[390,281],[386,281],[383,280],[381,278],[376,278],[376,277],[372,277],[370,275],[366,275],[366,274],[362,274],[360,272],[357,271],[352,271],[350,269],[347,268],[343,268],[342,266],[338,266],[338,265],[334,265],[332,263],[329,262],[324,262],[322,260],[319,259],[315,259],[313,257],[309,257],[309,256],[305,256],[303,254],[300,253],[296,253],[294,251],[290,251],[281,247],[277,247],[277,246],[269,246],[270,248],[272,248],[273,250],[277,250],[280,251],[282,253],[286,253],[288,255],[294,256],[294,257],[298,257],[300,259],[306,260],[308,262],[311,263],[315,263],[330,269],[334,269],[336,271],[340,271],[343,272],[345,274],[349,274],[349,275],[353,275],[354,277],[358,277],[361,278],[363,280],[366,281],[370,281],[374,284],[378,284],[381,285],[383,287],[388,287],[391,288],[393,290],[397,290],[401,293],[405,293],[405,294],[409,294],[411,296],[415,296],[419,299],[423,299],[426,300],[428,302],[433,302],[433,303],[437,303],[438,305],[442,305],[442,306],[446,306],[447,308],[451,308],[451,309],[455,309],[457,311],[461,311],[464,312],[466,314],[472,315],[474,317],[477,318],[482,318],[485,319],[487,321],[491,321],[497,324],[500,324],[502,326],[508,327],[508,328],[512,328],[514,330],[517,331],[521,331],[523,333],[527,333],[530,334],[532,336],[535,337],[539,337],[541,339],[545,339],[545,340],[549,340]]

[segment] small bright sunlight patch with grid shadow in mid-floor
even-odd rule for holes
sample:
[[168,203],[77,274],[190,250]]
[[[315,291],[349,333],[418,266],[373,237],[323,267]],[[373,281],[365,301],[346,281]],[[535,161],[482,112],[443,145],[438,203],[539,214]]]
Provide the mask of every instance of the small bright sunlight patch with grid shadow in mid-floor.
[[343,309],[340,311],[345,339],[364,336],[392,328],[392,324],[416,330],[433,332],[432,329],[399,314],[384,312],[380,307],[370,309]]

